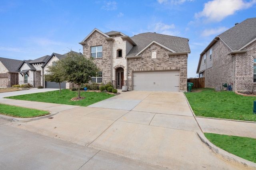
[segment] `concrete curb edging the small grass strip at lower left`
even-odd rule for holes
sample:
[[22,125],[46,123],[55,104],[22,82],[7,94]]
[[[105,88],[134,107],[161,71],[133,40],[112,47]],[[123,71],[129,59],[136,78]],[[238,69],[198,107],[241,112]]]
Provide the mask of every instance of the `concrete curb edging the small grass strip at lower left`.
[[20,118],[20,117],[12,117],[12,116],[7,116],[7,115],[0,115],[0,119],[10,121],[10,122],[28,122],[28,121],[34,121],[34,120],[39,120],[39,119],[44,119],[44,118],[50,118],[53,115],[56,115],[58,112],[50,112],[49,115],[44,115],[40,117],[29,117],[29,118]]

